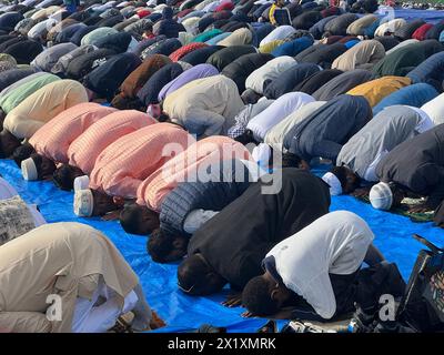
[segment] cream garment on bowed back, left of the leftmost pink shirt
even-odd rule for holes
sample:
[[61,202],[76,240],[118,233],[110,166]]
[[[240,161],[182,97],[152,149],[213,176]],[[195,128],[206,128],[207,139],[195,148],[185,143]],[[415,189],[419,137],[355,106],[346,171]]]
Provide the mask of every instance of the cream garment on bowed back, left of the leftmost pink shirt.
[[36,91],[8,113],[3,128],[18,139],[31,138],[60,112],[88,102],[87,90],[74,80],[58,80]]

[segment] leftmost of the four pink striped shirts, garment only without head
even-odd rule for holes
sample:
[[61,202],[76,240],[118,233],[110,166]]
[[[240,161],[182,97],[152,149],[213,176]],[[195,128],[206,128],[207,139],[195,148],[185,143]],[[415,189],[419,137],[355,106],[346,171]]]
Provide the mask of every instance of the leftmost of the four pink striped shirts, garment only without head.
[[98,103],[79,103],[60,112],[50,122],[40,128],[29,140],[34,150],[56,162],[68,163],[70,144],[91,124],[107,114],[115,112]]

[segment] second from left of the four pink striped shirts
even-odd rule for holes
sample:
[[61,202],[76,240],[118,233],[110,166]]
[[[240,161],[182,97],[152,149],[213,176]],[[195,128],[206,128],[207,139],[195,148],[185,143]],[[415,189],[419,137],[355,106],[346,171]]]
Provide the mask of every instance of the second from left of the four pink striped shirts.
[[123,135],[155,123],[147,113],[135,110],[115,111],[92,124],[68,149],[69,164],[90,174],[99,154]]

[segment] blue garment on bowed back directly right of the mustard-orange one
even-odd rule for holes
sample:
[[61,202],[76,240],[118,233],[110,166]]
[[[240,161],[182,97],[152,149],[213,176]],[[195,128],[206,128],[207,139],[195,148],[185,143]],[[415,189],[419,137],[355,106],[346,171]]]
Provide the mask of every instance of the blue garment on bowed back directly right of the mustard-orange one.
[[375,115],[382,110],[385,110],[385,108],[395,104],[421,108],[437,95],[438,92],[430,84],[418,83],[408,85],[382,99],[381,102],[373,108],[373,114]]

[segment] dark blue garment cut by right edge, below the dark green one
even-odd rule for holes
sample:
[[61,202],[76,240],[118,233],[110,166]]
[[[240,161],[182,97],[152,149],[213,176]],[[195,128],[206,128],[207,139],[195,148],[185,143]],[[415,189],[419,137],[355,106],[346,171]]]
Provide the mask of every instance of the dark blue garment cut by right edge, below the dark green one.
[[407,73],[413,83],[425,82],[433,85],[437,91],[443,91],[444,80],[444,52],[428,57],[415,69]]

